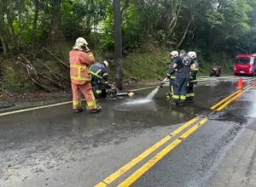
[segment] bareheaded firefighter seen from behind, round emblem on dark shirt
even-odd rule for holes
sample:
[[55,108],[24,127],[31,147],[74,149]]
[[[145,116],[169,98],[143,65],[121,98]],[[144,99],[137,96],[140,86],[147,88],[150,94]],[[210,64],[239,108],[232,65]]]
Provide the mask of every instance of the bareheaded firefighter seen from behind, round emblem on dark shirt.
[[183,106],[187,96],[187,87],[190,78],[190,67],[195,68],[194,60],[191,59],[184,50],[180,51],[180,56],[175,59],[169,74],[177,68],[176,78],[173,85],[173,104]]

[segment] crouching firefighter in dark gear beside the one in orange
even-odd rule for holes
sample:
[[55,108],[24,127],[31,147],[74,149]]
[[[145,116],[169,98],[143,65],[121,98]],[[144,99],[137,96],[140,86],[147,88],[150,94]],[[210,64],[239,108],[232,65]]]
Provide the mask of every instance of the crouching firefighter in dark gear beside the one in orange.
[[96,86],[96,97],[105,98],[107,96],[106,89],[110,88],[108,85],[108,61],[96,62],[90,66],[89,69],[92,84]]

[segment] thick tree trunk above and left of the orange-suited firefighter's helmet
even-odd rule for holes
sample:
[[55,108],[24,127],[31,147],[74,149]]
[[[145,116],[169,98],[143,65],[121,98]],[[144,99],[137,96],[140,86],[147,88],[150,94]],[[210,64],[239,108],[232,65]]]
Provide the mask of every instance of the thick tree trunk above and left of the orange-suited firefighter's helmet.
[[49,42],[62,42],[61,33],[61,2],[62,0],[51,0],[51,29]]

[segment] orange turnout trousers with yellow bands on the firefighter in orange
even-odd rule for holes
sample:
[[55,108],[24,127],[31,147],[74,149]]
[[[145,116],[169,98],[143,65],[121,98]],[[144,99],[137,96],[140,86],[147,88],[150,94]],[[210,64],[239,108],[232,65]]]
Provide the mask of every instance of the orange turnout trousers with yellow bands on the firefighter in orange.
[[90,82],[85,82],[84,84],[74,84],[72,83],[73,92],[73,109],[79,109],[82,107],[82,94],[87,102],[88,109],[96,109],[96,100],[92,92],[92,87]]

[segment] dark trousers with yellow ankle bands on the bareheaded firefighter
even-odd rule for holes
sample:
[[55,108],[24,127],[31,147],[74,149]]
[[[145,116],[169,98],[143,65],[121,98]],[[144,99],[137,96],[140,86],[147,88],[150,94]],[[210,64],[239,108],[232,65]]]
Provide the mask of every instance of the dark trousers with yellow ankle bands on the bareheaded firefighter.
[[186,100],[188,86],[188,75],[184,72],[179,73],[173,84],[173,102],[183,103]]

